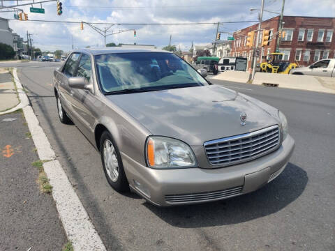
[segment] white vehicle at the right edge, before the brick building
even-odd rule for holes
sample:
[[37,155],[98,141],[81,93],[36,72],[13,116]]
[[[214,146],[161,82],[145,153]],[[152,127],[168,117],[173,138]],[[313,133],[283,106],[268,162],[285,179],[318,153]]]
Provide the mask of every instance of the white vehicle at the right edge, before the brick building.
[[290,70],[290,74],[335,77],[335,59],[322,59],[311,66],[297,67]]

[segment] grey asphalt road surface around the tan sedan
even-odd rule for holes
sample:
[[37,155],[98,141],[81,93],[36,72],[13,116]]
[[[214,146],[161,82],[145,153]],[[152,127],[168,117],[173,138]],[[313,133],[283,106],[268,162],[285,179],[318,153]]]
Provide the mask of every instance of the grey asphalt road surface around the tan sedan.
[[18,73],[108,250],[335,250],[334,95],[211,79],[281,109],[295,152],[283,174],[256,192],[156,208],[137,195],[114,192],[99,153],[75,126],[59,122],[52,70],[47,63],[26,63]]

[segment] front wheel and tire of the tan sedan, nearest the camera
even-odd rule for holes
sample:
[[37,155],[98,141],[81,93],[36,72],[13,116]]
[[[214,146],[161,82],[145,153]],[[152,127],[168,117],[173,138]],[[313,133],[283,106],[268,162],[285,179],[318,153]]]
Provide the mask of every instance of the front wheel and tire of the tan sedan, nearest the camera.
[[[108,155],[108,153],[110,153],[110,155]],[[124,173],[124,165],[121,160],[120,151],[108,131],[103,132],[103,135],[101,135],[100,155],[101,162],[103,163],[103,172],[105,172],[110,186],[117,192],[128,192],[129,183]]]

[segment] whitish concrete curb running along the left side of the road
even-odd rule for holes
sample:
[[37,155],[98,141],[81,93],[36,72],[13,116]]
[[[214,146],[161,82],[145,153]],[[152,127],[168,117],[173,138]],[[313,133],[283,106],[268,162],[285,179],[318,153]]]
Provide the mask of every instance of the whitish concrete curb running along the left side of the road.
[[[17,77],[17,73],[15,82],[22,89],[22,84]],[[26,93],[23,92],[23,95],[28,100]],[[40,127],[29,102],[28,105],[23,107],[23,112],[36,146],[38,157],[40,160],[50,160],[43,163],[44,171],[53,187],[52,197],[56,202],[57,211],[66,231],[66,236],[72,242],[74,250],[106,250],[103,241],[101,241],[100,236],[89,219],[87,211],[79,197],[77,197],[75,190],[73,190],[70,181],[68,181],[64,169],[61,167],[59,161],[56,160],[56,155],[51,148],[51,144],[43,128]]]

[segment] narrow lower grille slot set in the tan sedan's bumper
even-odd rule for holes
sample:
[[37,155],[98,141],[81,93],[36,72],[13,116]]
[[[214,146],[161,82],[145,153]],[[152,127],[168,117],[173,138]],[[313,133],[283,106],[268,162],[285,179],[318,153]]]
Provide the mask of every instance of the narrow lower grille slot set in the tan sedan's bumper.
[[188,195],[165,195],[165,201],[170,204],[187,203],[187,202],[199,202],[199,201],[213,201],[216,199],[225,199],[240,195],[242,193],[242,187],[229,188],[214,192],[200,192]]

